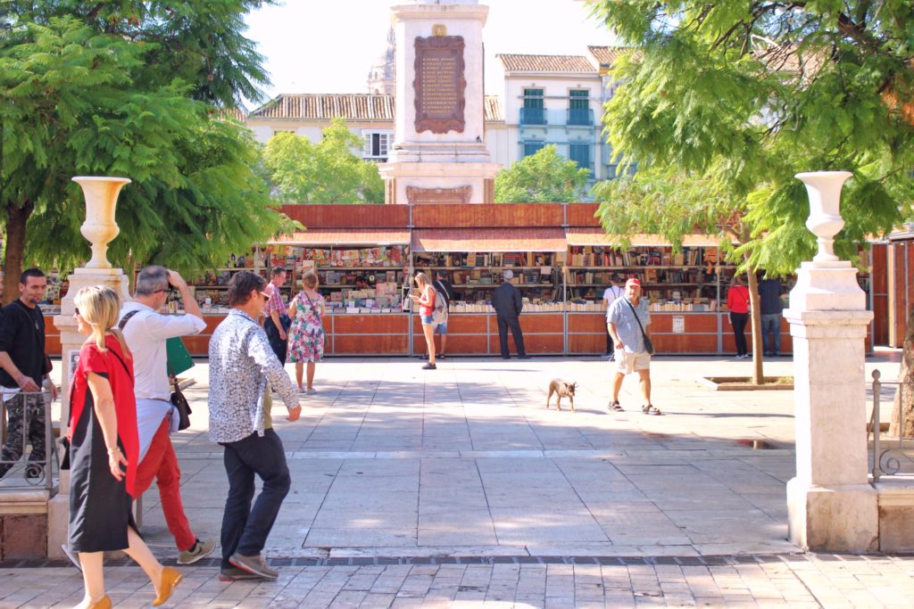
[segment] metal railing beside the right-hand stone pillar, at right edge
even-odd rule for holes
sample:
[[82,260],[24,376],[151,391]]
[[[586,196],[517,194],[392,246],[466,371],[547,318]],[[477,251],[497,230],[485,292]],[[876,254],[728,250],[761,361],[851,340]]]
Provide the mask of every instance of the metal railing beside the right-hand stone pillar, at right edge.
[[[878,482],[883,476],[914,476],[914,438],[904,435],[907,423],[904,406],[914,395],[914,383],[883,383],[879,380],[880,376],[882,374],[878,370],[873,371],[873,413],[870,415],[869,427],[873,434],[871,472],[874,482]],[[898,425],[897,443],[894,436],[890,441],[883,437],[879,402],[885,385],[896,385],[900,394],[901,407],[898,408],[898,419],[888,422]]]

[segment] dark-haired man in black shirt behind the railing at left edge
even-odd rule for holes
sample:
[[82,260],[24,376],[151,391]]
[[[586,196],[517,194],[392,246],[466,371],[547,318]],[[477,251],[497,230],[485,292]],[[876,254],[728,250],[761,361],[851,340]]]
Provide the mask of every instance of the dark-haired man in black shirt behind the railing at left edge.
[[[19,298],[0,311],[0,385],[8,417],[0,477],[22,457],[26,442],[32,445],[29,461],[41,464],[45,460],[45,404],[40,392],[42,380],[51,371],[45,355],[45,319],[38,303],[47,288],[45,274],[29,268],[19,278]],[[48,385],[56,398],[57,388]],[[40,478],[40,471],[27,467],[26,476]]]

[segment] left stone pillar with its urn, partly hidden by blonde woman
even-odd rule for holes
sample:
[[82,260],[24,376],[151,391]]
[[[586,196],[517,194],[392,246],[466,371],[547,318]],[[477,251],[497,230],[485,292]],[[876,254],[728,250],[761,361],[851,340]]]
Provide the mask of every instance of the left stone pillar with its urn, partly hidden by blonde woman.
[[[123,300],[130,299],[127,291],[127,276],[121,268],[112,268],[106,252],[108,244],[118,235],[120,229],[114,222],[114,210],[117,195],[127,178],[113,177],[76,177],[73,178],[82,187],[86,197],[86,222],[80,231],[92,246],[92,258],[86,268],[77,268],[67,280],[69,289],[60,302],[60,315],[54,318],[54,325],[60,331],[61,388],[60,425],[61,433],[69,423],[69,378],[74,358],[80,352],[86,337],[77,330],[73,319],[73,299],[80,289],[87,286],[106,285],[121,295]],[[58,494],[48,502],[48,558],[62,559],[60,545],[67,541],[67,523],[69,521],[69,471],[60,472],[60,489]]]

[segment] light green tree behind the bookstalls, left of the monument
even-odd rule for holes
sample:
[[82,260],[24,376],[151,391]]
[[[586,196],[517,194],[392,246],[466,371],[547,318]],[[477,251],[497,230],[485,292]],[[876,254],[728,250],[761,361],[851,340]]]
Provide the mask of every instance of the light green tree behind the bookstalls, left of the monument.
[[362,140],[336,118],[320,142],[294,133],[277,133],[264,152],[273,194],[283,203],[384,203],[384,181],[377,164],[352,153]]

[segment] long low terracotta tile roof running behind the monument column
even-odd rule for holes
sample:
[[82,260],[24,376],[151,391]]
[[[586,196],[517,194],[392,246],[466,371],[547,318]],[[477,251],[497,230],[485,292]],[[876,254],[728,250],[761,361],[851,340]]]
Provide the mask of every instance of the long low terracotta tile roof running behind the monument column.
[[[282,93],[253,110],[250,119],[329,121],[394,120],[394,96],[382,93]],[[497,95],[485,96],[485,121],[505,121]]]

